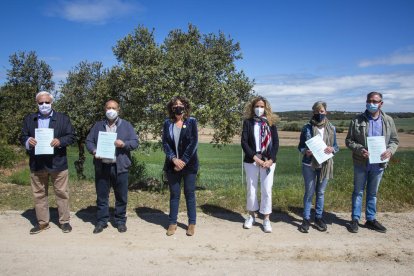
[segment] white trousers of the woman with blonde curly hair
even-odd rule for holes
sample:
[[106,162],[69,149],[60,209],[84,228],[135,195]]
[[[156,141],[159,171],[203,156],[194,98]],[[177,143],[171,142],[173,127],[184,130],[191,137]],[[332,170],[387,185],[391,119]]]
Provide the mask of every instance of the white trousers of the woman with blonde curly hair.
[[[263,215],[272,213],[272,186],[273,177],[275,173],[276,164],[274,163],[270,167],[269,174],[266,173],[266,169],[257,166],[254,163],[244,163],[244,170],[246,172],[246,185],[247,185],[247,211],[257,211]],[[260,178],[260,208],[257,200],[257,185]]]

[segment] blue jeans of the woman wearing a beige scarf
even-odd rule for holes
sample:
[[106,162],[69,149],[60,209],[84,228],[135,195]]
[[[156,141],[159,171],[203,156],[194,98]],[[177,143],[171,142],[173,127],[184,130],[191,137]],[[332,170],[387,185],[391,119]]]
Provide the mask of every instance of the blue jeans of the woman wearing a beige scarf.
[[325,189],[328,185],[328,178],[320,179],[321,170],[314,170],[311,166],[302,164],[302,174],[305,180],[305,195],[303,196],[303,218],[310,219],[313,194],[316,192],[315,217],[322,218],[323,205],[325,201]]

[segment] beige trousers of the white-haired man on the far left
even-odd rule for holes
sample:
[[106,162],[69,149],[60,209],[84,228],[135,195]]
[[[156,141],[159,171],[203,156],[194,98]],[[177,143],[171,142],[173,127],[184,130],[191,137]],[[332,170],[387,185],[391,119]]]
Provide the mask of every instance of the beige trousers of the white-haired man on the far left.
[[48,199],[49,177],[55,191],[59,223],[67,223],[70,220],[68,170],[61,172],[38,171],[30,173],[37,221],[39,224],[46,224],[50,220]]

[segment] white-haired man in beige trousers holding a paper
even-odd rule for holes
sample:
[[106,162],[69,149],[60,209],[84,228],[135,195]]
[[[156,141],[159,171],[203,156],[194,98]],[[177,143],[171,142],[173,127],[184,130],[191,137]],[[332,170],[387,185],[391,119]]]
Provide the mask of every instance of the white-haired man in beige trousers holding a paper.
[[21,143],[30,155],[30,179],[37,217],[37,224],[30,234],[40,233],[50,227],[49,178],[56,195],[60,227],[63,233],[69,233],[72,227],[69,224],[66,147],[75,141],[75,131],[68,116],[52,109],[53,96],[49,92],[39,92],[36,102],[39,112],[24,118],[21,135]]

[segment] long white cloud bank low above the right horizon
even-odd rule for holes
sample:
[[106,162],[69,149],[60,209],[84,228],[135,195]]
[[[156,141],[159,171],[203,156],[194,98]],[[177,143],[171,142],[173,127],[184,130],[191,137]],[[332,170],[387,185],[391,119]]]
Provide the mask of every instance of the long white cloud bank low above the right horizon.
[[274,76],[254,90],[266,97],[277,111],[310,110],[318,100],[326,101],[328,110],[362,111],[368,92],[383,93],[384,110],[413,112],[414,73],[370,74],[339,77]]

